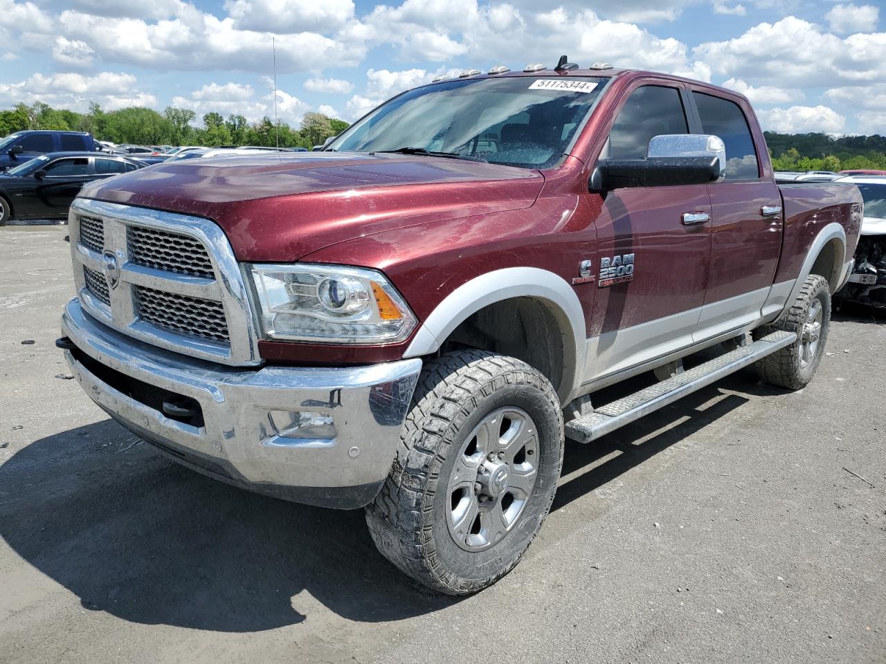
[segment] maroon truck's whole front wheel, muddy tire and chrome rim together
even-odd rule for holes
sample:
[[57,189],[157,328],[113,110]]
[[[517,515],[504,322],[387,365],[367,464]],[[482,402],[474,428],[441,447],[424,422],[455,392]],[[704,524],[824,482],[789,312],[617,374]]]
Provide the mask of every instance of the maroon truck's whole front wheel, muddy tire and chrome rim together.
[[539,531],[563,465],[563,416],[524,362],[460,351],[428,362],[391,474],[366,508],[385,558],[434,590],[482,590]]

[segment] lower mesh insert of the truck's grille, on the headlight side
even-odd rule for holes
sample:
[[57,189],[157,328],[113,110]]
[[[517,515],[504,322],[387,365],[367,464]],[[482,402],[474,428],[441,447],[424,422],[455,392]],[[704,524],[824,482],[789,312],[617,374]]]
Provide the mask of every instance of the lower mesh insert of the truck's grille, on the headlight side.
[[142,320],[180,335],[202,336],[227,343],[228,324],[221,302],[136,286]]

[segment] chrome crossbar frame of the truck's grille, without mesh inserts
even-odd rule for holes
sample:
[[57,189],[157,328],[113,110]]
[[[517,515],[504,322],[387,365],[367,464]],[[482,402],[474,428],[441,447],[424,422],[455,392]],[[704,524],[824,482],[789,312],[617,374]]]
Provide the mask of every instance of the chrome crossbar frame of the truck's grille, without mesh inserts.
[[[82,268],[79,267],[89,266],[104,274],[102,255],[80,242],[81,215],[103,221],[105,251],[113,251],[120,261],[120,282],[110,290],[110,307],[89,295]],[[97,320],[128,336],[169,351],[231,366],[262,364],[258,347],[259,336],[243,274],[227,236],[214,221],[175,212],[105,203],[90,198],[75,199],[68,220],[71,227],[71,255],[77,297],[83,308]],[[202,243],[213,264],[215,278],[176,274],[130,263],[127,237],[129,226],[187,235]],[[141,320],[135,306],[136,286],[220,302],[225,312],[230,344],[221,344],[199,336],[176,334]]]

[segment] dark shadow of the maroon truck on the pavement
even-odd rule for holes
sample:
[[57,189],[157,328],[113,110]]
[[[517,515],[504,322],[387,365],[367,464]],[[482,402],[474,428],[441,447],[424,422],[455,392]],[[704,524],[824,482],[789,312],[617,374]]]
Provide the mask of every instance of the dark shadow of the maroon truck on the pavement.
[[[771,390],[750,376],[730,377],[596,444],[571,444],[563,475],[587,471],[563,485],[554,509],[748,400],[715,400],[723,386]],[[304,622],[317,603],[379,622],[458,601],[426,591],[382,558],[361,510],[303,506],[216,482],[110,420],[37,440],[0,467],[0,537],[84,608],[144,624],[247,632]]]

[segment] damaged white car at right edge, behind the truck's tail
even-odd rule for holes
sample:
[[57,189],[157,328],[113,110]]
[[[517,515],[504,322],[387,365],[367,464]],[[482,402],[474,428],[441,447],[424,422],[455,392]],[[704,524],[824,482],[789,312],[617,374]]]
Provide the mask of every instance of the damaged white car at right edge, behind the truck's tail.
[[858,187],[865,201],[855,265],[837,299],[886,309],[886,175],[851,175],[835,182]]

